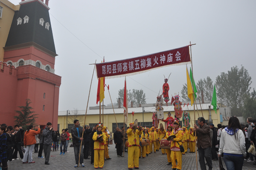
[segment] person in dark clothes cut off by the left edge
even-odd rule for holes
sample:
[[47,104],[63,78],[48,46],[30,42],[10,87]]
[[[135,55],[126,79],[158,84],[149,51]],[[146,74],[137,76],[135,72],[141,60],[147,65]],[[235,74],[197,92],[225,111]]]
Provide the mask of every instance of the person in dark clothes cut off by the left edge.
[[6,127],[1,126],[0,127],[0,164],[3,164],[3,170],[8,170],[6,142],[7,142]]

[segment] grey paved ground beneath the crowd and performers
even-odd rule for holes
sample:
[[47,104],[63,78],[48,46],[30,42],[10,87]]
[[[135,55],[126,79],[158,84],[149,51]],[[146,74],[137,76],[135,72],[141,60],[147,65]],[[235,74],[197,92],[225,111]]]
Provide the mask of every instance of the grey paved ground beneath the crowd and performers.
[[[69,153],[65,155],[59,155],[59,151],[51,152],[50,165],[44,164],[44,158],[38,158],[37,153],[33,153],[34,164],[22,164],[19,160],[12,161],[8,163],[9,170],[71,170],[71,169],[81,169],[83,167],[74,168],[75,165],[75,156],[72,147],[68,147]],[[19,155],[19,154],[18,154]],[[44,153],[43,153],[44,155]],[[112,158],[111,160],[105,161],[103,169],[105,170],[128,170],[128,157],[125,153],[125,157],[117,157],[115,145],[110,145],[109,155]],[[224,161],[223,165],[224,164]],[[143,170],[171,170],[171,166],[167,166],[166,155],[162,155],[161,150],[157,153],[151,153],[146,158],[140,158],[140,169]],[[84,170],[94,170],[90,160],[84,160],[85,168]],[[213,170],[219,170],[218,161],[212,161]],[[226,170],[227,168],[224,167]],[[253,165],[253,162],[244,162],[243,170],[255,170],[256,165]],[[195,153],[186,153],[182,157],[182,170],[196,170],[196,157]],[[198,162],[198,170],[200,170],[200,165]]]

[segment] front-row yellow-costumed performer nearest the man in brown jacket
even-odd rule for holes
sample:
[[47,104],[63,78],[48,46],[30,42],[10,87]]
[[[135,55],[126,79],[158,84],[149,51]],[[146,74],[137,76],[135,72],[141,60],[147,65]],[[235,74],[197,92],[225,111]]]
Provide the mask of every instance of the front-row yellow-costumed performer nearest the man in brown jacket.
[[[182,144],[181,140],[183,138],[183,130],[180,128],[180,123],[176,118],[173,123],[173,127],[174,129],[172,130],[171,135],[175,135],[176,138],[172,139],[172,144],[171,144],[172,169],[176,170],[177,168],[177,170],[181,170],[182,154],[180,152],[180,145]],[[176,159],[177,159],[177,165],[175,162]]]

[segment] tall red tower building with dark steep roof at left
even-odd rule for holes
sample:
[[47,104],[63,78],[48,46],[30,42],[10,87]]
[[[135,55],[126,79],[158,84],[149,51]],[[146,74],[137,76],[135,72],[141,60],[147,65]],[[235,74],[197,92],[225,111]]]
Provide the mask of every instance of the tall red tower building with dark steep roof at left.
[[57,129],[61,77],[55,75],[48,1],[0,1],[0,123],[14,125],[15,110],[29,98],[36,124],[52,122]]

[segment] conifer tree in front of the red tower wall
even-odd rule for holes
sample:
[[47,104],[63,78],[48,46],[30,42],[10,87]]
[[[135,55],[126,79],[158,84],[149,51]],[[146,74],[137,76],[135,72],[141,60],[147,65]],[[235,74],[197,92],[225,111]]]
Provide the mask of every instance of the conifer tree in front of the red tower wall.
[[26,129],[27,126],[29,125],[35,125],[36,121],[36,115],[38,114],[33,114],[35,112],[32,112],[31,110],[33,109],[32,107],[29,106],[32,102],[30,99],[26,99],[26,106],[18,106],[20,110],[15,110],[15,112],[18,114],[17,116],[14,116],[15,118],[15,124],[18,124],[22,126],[22,128]]

